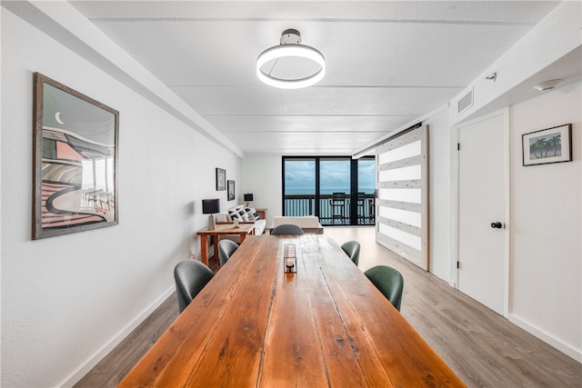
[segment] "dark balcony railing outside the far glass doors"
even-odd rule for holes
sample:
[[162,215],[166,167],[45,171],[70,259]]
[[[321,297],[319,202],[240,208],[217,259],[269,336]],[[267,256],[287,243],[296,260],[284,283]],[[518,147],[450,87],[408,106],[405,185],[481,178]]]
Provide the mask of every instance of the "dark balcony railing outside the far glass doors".
[[316,214],[315,194],[286,194],[285,215],[318,215],[319,222],[323,225],[350,224],[350,206],[357,206],[358,225],[375,224],[374,194],[365,194],[359,197],[355,204],[346,195],[342,201],[333,202],[332,194],[319,195],[319,214]]

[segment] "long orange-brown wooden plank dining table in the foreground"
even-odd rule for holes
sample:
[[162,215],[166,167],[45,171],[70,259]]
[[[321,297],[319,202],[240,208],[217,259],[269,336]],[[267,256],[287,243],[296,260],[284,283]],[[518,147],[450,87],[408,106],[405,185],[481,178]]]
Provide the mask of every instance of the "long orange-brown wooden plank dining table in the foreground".
[[119,386],[466,385],[334,240],[304,234],[247,236]]

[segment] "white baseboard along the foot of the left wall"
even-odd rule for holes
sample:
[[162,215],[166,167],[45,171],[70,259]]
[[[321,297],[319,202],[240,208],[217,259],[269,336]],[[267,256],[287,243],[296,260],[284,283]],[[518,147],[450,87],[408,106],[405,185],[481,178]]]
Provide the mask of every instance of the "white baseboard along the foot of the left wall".
[[63,383],[58,384],[60,387],[72,387],[75,383],[78,383],[86,373],[89,373],[91,369],[95,367],[97,363],[99,363],[105,355],[110,353],[112,350],[115,349],[119,343],[121,343],[129,333],[134,331],[134,329],[139,326],[140,323],[144,322],[146,318],[151,314],[154,313],[156,308],[160,306],[160,304],[164,303],[166,299],[176,291],[176,287],[172,286],[166,290],[165,293],[162,293],[154,303],[151,303],[147,306],[146,310],[140,313],[135,319],[127,323],[125,328],[117,333],[109,343],[105,343],[105,345],[99,349],[93,356],[91,356],[83,365],[81,365],[74,373],[71,373],[68,377],[65,378]]

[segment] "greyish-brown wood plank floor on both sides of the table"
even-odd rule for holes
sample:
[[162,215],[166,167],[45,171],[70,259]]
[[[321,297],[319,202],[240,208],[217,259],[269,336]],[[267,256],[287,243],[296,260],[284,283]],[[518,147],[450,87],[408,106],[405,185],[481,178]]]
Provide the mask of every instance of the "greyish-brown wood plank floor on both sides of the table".
[[[401,312],[469,387],[582,387],[582,364],[375,242],[373,227],[327,227],[362,245],[359,268],[395,267],[405,278]],[[211,260],[211,267],[217,263]],[[178,315],[176,294],[76,387],[115,387]]]

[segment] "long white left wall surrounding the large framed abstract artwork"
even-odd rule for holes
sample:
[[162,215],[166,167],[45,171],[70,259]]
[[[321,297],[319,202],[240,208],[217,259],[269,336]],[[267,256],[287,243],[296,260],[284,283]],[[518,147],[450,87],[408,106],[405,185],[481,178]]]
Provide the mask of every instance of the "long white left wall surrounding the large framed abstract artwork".
[[[215,168],[240,184],[240,161],[5,9],[1,27],[1,385],[70,385],[174,291],[201,199],[228,205]],[[120,112],[119,225],[31,240],[33,72]]]

